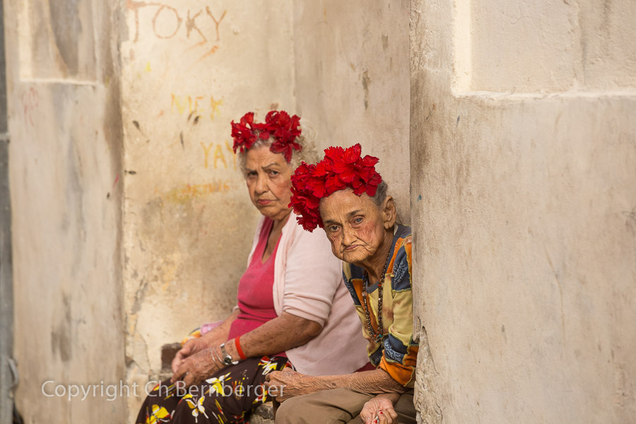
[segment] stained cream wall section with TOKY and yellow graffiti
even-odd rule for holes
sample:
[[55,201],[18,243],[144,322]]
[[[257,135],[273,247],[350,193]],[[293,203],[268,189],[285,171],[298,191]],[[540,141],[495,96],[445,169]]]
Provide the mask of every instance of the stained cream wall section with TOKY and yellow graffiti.
[[[160,347],[225,318],[259,213],[230,121],[295,110],[289,1],[126,4],[122,42],[124,299],[129,381]],[[132,398],[138,411],[143,397]]]

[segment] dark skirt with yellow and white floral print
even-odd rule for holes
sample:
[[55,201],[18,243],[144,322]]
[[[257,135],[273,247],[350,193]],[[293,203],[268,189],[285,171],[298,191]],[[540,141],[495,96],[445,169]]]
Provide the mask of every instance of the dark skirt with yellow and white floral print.
[[225,367],[188,389],[167,379],[143,401],[136,423],[246,423],[249,411],[269,401],[266,375],[288,367],[292,365],[284,356],[264,356]]

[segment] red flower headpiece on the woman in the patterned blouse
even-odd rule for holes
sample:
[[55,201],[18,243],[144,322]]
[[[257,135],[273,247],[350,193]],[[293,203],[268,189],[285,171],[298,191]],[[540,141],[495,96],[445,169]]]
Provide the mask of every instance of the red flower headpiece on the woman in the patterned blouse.
[[338,190],[351,188],[360,196],[363,193],[375,196],[382,177],[375,171],[378,158],[360,156],[362,148],[355,144],[350,148],[330,147],[324,151],[324,159],[316,165],[301,163],[292,175],[292,197],[296,219],[302,228],[312,232],[323,228],[318,211],[320,199]]

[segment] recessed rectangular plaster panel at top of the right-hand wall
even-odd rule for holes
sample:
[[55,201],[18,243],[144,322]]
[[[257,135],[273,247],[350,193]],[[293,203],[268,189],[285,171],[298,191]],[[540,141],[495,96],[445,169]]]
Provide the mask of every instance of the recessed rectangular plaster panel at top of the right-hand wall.
[[457,42],[472,57],[471,90],[546,93],[636,85],[633,1],[462,0],[457,11]]

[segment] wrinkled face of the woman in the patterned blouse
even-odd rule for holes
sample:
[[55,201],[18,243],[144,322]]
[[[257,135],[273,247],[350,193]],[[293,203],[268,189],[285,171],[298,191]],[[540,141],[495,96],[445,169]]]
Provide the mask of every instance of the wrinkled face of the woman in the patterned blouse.
[[320,200],[320,217],[331,251],[350,264],[371,257],[384,241],[382,211],[373,200],[345,189]]

